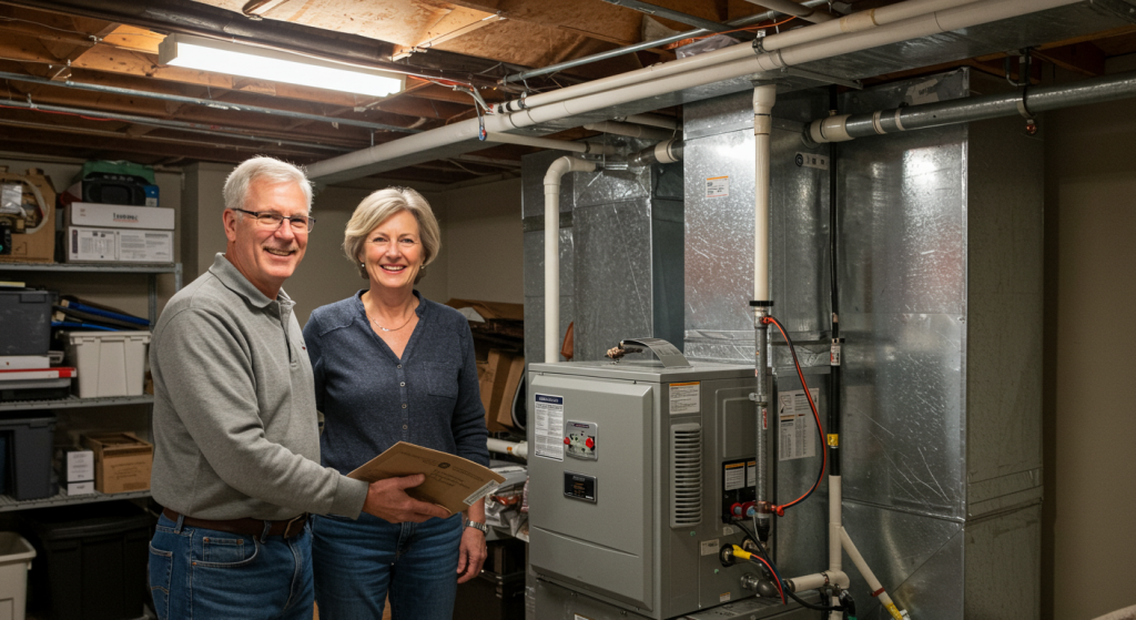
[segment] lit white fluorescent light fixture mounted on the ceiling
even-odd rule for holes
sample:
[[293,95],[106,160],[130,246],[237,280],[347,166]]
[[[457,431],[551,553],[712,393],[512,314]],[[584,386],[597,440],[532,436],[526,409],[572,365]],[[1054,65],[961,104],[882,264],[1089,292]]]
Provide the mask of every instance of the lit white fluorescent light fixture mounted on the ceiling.
[[386,97],[406,76],[200,36],[170,34],[158,47],[158,62],[349,93]]

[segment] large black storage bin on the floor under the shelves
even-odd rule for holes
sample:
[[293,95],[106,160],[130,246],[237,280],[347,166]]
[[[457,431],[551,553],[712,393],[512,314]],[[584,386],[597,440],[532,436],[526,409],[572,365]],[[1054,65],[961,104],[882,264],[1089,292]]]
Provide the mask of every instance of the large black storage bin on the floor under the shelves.
[[140,618],[149,601],[147,562],[154,520],[128,501],[22,516],[37,555],[32,609],[51,620]]

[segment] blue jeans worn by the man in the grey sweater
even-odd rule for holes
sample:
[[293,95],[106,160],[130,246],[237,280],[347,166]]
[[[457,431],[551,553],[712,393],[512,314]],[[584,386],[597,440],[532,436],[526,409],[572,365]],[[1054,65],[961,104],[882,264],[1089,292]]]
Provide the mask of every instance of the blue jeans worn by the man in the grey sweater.
[[150,542],[158,620],[311,620],[310,528],[242,536],[162,516]]

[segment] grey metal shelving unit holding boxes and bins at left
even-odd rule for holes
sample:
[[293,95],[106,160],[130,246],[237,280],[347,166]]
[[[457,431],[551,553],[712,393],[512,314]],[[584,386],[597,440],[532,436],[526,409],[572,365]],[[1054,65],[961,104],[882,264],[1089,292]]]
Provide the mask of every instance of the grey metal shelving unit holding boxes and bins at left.
[[[174,275],[174,290],[182,288],[182,263],[160,265],[82,265],[70,262],[55,263],[20,263],[0,262],[0,273],[23,271],[23,273],[49,273],[49,274],[139,274],[147,276],[149,288],[149,318],[150,322],[158,319],[158,276],[162,274]],[[87,407],[122,407],[122,405],[150,405],[153,404],[153,396],[143,394],[141,396],[110,396],[102,399],[80,399],[70,395],[66,399],[51,399],[43,401],[11,401],[0,403],[0,413],[6,411],[28,411],[42,409],[76,409]],[[93,493],[90,495],[67,495],[60,492],[52,497],[42,500],[17,501],[8,495],[0,495],[0,512],[15,510],[31,510],[36,508],[59,506],[69,504],[84,504],[93,502],[109,502],[114,500],[133,500],[149,497],[149,491],[134,493]]]

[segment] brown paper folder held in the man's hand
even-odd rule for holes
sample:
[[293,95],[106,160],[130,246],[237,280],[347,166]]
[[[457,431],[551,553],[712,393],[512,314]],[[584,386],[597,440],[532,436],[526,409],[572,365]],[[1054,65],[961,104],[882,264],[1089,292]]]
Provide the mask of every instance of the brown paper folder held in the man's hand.
[[348,474],[348,478],[374,483],[414,474],[425,475],[426,481],[408,488],[407,495],[437,504],[451,514],[466,510],[504,481],[504,476],[487,467],[407,442],[392,445]]

